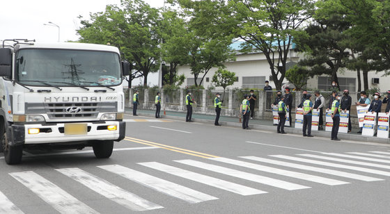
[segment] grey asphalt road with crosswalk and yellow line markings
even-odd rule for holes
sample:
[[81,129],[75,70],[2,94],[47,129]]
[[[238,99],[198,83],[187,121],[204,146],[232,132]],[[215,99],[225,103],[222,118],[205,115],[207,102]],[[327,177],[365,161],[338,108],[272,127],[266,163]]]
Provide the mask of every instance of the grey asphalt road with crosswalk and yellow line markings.
[[390,145],[126,120],[109,159],[0,155],[0,213],[389,213]]

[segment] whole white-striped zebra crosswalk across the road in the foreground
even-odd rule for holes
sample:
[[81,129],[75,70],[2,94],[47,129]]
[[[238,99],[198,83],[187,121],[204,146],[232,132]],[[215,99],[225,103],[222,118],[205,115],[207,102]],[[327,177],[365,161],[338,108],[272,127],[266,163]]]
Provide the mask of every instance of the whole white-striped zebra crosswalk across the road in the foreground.
[[[54,169],[50,173],[76,181],[78,189],[85,188],[88,194],[99,195],[129,211],[153,211],[174,205],[164,200],[153,201],[156,197],[149,195],[141,197],[139,195],[142,192],[137,192],[138,188],[129,190],[128,187],[148,188],[157,195],[166,195],[173,201],[187,204],[215,201],[228,194],[263,197],[274,189],[311,191],[317,186],[348,186],[356,182],[384,181],[390,176],[389,158],[390,153],[382,151],[279,154],[267,157],[184,159],[169,163],[142,162],[137,163],[137,170],[123,165],[98,165],[95,170],[70,167]],[[59,182],[45,176],[33,171],[9,173],[9,179],[21,183],[21,187],[42,199],[40,203],[51,206],[59,213],[102,212],[91,206],[88,199],[68,190],[69,186],[61,186]],[[112,179],[112,176],[122,178],[127,185],[116,184],[118,181]],[[188,182],[192,183],[191,187],[188,187]],[[212,191],[203,192],[204,186],[212,188]],[[18,207],[19,201],[10,200],[18,198],[17,192],[6,193],[0,188],[0,213],[30,213],[29,206]]]

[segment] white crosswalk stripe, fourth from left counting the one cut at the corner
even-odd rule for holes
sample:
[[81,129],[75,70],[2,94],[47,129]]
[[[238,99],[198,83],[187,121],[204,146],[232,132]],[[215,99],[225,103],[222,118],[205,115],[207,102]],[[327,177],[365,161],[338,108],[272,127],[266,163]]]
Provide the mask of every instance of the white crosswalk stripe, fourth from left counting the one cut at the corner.
[[136,170],[123,167],[121,165],[102,165],[98,167],[103,170],[107,170],[109,172],[113,172],[115,174],[123,176],[126,179],[137,182],[143,186],[147,186],[148,188],[152,188],[153,190],[157,190],[158,192],[162,192],[165,195],[170,195],[172,197],[182,199],[192,204],[202,201],[218,199],[217,197],[213,197],[211,195],[207,195],[202,192],[187,188],[185,186],[180,186],[176,183],[159,179],[155,176],[151,176],[143,172],[138,172]]

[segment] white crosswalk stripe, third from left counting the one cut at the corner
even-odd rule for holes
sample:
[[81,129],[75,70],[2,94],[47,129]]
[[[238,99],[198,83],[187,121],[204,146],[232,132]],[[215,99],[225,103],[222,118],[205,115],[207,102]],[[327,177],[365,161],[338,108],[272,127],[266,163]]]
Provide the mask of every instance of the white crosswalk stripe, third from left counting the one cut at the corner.
[[100,195],[107,197],[108,199],[111,199],[112,201],[115,201],[132,211],[149,211],[164,208],[143,199],[138,195],[134,195],[132,192],[127,192],[126,190],[123,190],[104,179],[100,179],[98,176],[94,176],[84,170],[80,170],[79,168],[66,168],[56,171],[65,174],[71,179],[78,181],[91,190],[98,192]]

